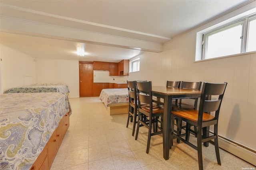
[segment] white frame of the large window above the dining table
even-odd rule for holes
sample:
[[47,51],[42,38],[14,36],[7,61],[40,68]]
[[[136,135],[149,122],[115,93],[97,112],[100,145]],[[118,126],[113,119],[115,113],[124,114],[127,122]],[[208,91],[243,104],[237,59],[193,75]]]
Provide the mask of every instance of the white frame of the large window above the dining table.
[[[241,47],[240,47],[240,53],[236,53],[236,54],[241,54],[241,53],[246,53],[247,52],[247,43],[248,43],[248,24],[249,21],[255,20],[256,19],[256,13],[250,14],[242,19],[239,20],[235,20],[232,21],[230,23],[227,23],[225,25],[222,25],[220,27],[217,27],[215,29],[211,29],[209,31],[206,31],[204,33],[202,33],[202,39],[201,39],[201,56],[200,56],[200,60],[207,60],[207,48],[208,48],[208,37],[210,35],[214,35],[216,33],[219,33],[221,31],[230,29],[232,27],[235,27],[237,25],[242,24],[242,32],[241,32]],[[236,54],[230,54],[230,55],[236,55]],[[224,55],[225,56],[225,55]],[[218,57],[224,57],[224,56],[218,56]],[[209,59],[215,59],[218,57],[212,57]]]

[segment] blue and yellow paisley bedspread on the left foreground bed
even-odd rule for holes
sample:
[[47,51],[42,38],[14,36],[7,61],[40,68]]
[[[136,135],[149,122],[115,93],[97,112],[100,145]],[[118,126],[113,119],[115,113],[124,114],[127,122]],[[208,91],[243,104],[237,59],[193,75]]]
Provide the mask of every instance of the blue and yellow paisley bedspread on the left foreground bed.
[[68,111],[63,93],[0,95],[0,169],[29,170]]

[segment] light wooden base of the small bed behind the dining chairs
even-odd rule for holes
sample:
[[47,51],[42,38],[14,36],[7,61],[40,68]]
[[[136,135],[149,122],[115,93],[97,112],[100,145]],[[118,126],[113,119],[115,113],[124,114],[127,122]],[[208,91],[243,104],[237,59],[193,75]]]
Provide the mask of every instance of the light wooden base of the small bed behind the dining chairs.
[[108,104],[109,115],[125,114],[129,111],[129,102]]

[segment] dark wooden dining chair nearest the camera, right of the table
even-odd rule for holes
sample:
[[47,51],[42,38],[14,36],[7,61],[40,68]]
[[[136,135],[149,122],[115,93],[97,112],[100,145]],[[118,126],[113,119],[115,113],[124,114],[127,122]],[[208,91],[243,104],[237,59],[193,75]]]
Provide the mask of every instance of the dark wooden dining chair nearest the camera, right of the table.
[[[190,109],[178,109],[173,110],[171,115],[171,147],[173,144],[174,137],[190,147],[194,148],[198,152],[198,166],[199,169],[203,169],[203,159],[202,159],[202,143],[206,141],[210,141],[214,139],[214,146],[216,152],[216,158],[219,165],[220,163],[220,152],[218,147],[218,118],[220,113],[220,106],[222,103],[222,99],[224,96],[224,92],[226,89],[227,83],[208,83],[204,82],[202,87],[202,94],[200,97],[199,110]],[[213,96],[211,98],[210,96]],[[216,97],[217,96],[217,97]],[[208,114],[210,112],[215,112],[215,114]],[[190,143],[187,139],[182,138],[184,134],[175,134],[174,133],[174,119],[177,117],[178,119],[182,119],[188,124],[194,125],[197,127],[197,146]],[[206,131],[206,128],[210,125],[214,125],[213,135],[206,135],[206,133],[202,133],[202,131]],[[186,136],[190,135],[189,128],[186,128]]]

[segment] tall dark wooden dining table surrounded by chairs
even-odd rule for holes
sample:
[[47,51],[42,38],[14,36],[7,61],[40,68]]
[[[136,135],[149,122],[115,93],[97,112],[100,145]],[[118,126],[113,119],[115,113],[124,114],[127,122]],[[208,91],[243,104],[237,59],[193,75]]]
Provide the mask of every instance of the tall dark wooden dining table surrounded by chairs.
[[157,98],[164,99],[164,114],[162,121],[163,129],[163,156],[165,160],[169,159],[170,143],[171,143],[171,114],[172,99],[174,98],[193,98],[200,97],[201,90],[172,88],[166,86],[152,86],[152,95]]

